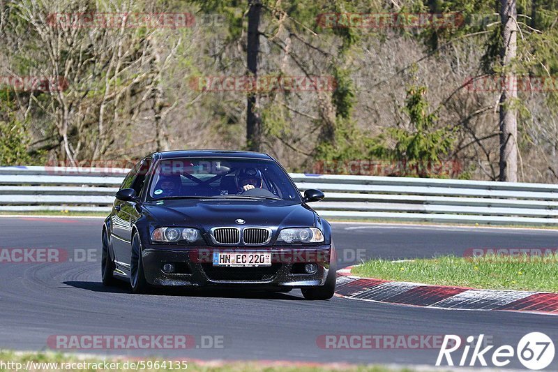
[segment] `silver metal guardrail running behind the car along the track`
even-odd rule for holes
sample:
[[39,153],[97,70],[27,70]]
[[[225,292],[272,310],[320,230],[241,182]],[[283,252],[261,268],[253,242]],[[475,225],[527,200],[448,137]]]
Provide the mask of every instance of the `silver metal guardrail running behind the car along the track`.
[[[128,172],[112,168],[0,167],[0,211],[110,211]],[[294,173],[312,203],[336,219],[558,224],[558,185]]]

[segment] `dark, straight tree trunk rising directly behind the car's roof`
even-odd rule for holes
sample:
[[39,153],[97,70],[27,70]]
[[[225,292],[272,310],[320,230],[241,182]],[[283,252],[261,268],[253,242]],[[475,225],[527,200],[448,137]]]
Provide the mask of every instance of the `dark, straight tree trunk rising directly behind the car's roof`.
[[[248,45],[247,63],[248,73],[257,78],[257,54],[259,51],[259,18],[262,15],[262,2],[250,0],[248,10]],[[250,151],[262,149],[262,120],[258,112],[257,92],[248,93],[248,107],[246,110],[246,146]]]

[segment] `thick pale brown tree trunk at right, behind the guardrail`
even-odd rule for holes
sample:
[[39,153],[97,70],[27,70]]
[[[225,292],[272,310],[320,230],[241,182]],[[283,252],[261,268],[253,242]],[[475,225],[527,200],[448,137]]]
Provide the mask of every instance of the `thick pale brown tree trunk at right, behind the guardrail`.
[[517,52],[517,8],[515,0],[501,0],[502,96],[500,96],[500,181],[518,181],[518,117],[515,110],[518,87],[511,67]]

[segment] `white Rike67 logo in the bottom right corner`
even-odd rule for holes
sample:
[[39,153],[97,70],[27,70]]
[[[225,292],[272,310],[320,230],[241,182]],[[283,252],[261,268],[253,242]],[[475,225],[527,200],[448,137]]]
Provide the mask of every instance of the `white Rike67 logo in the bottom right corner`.
[[[452,357],[459,357],[458,353],[455,352],[457,350],[462,350],[460,359],[455,360],[458,366],[475,366],[477,362],[481,366],[488,366],[488,360],[492,362],[492,366],[503,367],[510,364],[514,357],[517,357],[525,368],[541,370],[548,367],[554,360],[554,343],[550,337],[541,332],[526,334],[521,338],[515,349],[511,345],[502,345],[495,350],[492,350],[494,345],[482,348],[483,338],[483,334],[479,335],[478,338],[469,336],[467,337],[467,344],[462,348],[462,338],[460,336],[446,335],[438,354],[436,366],[441,366],[444,359],[448,366],[453,366]],[[476,343],[475,340],[477,340]],[[472,348],[473,351],[471,352]],[[454,355],[452,355],[453,352],[455,352]]]

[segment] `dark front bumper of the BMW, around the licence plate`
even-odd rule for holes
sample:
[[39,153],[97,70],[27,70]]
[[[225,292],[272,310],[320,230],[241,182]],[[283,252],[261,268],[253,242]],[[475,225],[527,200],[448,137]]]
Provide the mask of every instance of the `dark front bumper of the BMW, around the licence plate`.
[[[334,248],[326,246],[276,247],[144,247],[142,259],[146,281],[156,286],[189,286],[206,288],[305,288],[324,285],[335,258]],[[271,253],[271,266],[267,267],[215,267],[213,253]],[[172,263],[175,272],[163,271]],[[314,274],[306,274],[304,266],[317,265]]]

